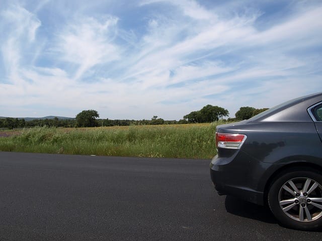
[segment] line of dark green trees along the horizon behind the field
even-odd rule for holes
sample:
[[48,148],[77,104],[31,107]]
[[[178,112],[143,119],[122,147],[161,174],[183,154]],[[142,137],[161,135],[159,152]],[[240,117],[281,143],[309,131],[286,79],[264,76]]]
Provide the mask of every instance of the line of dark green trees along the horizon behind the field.
[[200,110],[192,111],[183,116],[179,121],[165,121],[163,118],[158,118],[154,115],[151,119],[100,119],[100,115],[96,110],[89,109],[79,112],[75,118],[57,118],[52,119],[32,119],[26,121],[24,118],[0,118],[0,128],[16,129],[16,128],[31,128],[31,127],[113,127],[113,126],[130,126],[130,125],[171,125],[171,124],[189,124],[189,123],[211,123],[219,121],[236,122],[243,119],[249,119],[252,116],[267,110],[268,108],[256,109],[250,106],[240,107],[235,113],[234,118],[224,117],[229,116],[227,109],[211,104],[205,105]]

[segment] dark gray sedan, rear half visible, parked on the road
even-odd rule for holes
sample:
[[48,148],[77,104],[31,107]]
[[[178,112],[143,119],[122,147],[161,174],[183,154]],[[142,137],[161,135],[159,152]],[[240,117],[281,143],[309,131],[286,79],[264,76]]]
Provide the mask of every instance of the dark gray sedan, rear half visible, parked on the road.
[[322,227],[322,92],[216,128],[220,195],[268,205],[287,227]]

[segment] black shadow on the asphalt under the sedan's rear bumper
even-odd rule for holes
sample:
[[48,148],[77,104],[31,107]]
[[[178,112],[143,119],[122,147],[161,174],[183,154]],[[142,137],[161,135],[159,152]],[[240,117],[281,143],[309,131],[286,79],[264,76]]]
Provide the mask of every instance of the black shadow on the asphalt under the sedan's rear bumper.
[[225,208],[227,212],[237,216],[247,217],[267,223],[277,223],[277,220],[268,207],[256,205],[235,197],[226,196]]

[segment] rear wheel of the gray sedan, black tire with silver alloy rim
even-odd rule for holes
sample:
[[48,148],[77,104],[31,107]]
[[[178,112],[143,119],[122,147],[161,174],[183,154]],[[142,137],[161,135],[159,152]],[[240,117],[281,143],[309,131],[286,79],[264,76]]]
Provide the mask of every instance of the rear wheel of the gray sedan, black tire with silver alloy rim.
[[322,173],[311,168],[288,169],[272,183],[268,204],[284,226],[315,230],[322,227]]

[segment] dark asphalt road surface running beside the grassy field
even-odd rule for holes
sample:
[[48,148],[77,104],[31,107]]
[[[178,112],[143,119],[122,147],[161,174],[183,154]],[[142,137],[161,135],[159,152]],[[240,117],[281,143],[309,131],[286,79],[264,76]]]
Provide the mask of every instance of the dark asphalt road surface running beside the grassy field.
[[0,240],[322,240],[218,196],[209,162],[0,152]]

